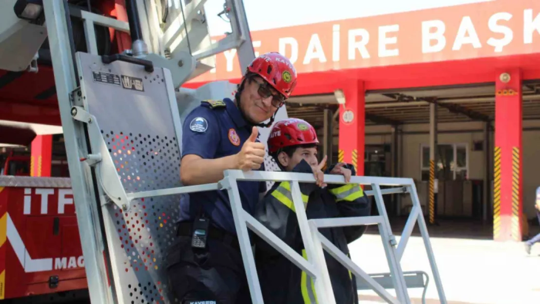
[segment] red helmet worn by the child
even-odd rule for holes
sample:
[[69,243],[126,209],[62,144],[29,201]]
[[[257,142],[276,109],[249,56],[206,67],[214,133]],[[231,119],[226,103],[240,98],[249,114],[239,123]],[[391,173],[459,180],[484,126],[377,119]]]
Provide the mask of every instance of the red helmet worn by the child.
[[288,118],[278,121],[268,137],[268,153],[278,152],[280,148],[296,145],[319,144],[317,133],[307,121]]

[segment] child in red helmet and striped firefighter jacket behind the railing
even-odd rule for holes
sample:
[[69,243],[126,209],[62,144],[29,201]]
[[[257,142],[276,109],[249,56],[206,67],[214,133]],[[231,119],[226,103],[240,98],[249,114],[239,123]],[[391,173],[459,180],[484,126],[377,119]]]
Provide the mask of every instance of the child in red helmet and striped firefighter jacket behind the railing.
[[[329,184],[323,174],[342,174],[348,182],[355,175],[352,165],[338,163],[325,172],[317,159],[319,140],[310,124],[301,119],[286,119],[275,124],[268,138],[268,153],[282,171],[313,173],[316,183],[301,183],[300,191],[308,219],[362,217],[370,215],[371,204],[357,184]],[[278,238],[307,258],[292,201],[291,184],[275,183],[254,215]],[[366,226],[321,228],[319,231],[349,255],[348,244],[366,231]],[[255,261],[265,303],[311,304],[316,294],[311,278],[284,255],[260,238],[255,239]],[[336,303],[358,302],[356,279],[347,268],[325,252],[326,264]]]

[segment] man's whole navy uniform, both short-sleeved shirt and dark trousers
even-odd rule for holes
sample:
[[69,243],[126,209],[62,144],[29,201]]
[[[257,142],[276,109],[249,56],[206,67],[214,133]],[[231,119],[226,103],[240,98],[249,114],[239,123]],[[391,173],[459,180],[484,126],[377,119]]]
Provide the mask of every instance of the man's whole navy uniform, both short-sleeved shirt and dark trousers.
[[[182,157],[216,159],[237,154],[252,128],[231,99],[202,102],[184,121]],[[244,210],[253,214],[266,184],[239,181],[238,190]],[[201,213],[211,222],[204,249],[191,247],[191,225]],[[251,303],[226,190],[190,193],[189,199],[181,200],[177,235],[167,254],[167,274],[180,303]]]

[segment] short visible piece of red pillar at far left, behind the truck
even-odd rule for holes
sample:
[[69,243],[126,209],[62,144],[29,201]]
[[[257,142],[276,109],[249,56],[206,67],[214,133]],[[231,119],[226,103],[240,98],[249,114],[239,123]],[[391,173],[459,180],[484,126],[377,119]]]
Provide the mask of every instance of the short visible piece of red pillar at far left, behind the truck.
[[32,140],[30,175],[50,177],[52,163],[52,135],[38,135]]

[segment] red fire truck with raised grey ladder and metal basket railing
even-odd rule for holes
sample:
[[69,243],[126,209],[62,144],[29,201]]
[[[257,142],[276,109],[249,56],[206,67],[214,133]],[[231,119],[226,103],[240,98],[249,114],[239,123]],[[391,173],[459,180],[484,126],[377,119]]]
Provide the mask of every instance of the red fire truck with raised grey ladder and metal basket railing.
[[[242,1],[223,0],[214,10],[228,24],[221,37],[210,36],[205,3],[2,1],[0,128],[11,131],[0,140],[28,146],[38,136],[58,133],[37,129],[62,127],[65,159],[56,159],[56,169],[49,170],[53,157],[43,151],[52,149],[49,142],[39,145],[37,153],[10,152],[2,160],[0,302],[177,302],[167,288],[164,255],[176,233],[178,201],[190,192],[226,190],[254,303],[263,301],[248,229],[311,276],[320,302],[335,303],[325,250],[387,302],[410,303],[400,259],[415,222],[441,302],[446,303],[411,179],[354,177],[351,182],[372,186],[366,194],[375,198],[379,215],[319,222],[308,222],[298,199],[298,183],[314,182],[309,174],[232,170],[216,184],[181,185],[181,121],[201,100],[233,96],[236,88],[227,81],[198,89],[183,84],[213,69],[220,52],[235,50],[242,70],[254,58]],[[276,120],[285,117],[283,108]],[[267,137],[268,130],[260,129],[260,136]],[[43,163],[43,156],[49,163]],[[42,169],[49,176],[40,174]],[[292,181],[307,260],[242,209],[240,180]],[[325,181],[344,182],[336,176]],[[381,190],[380,185],[393,187]],[[392,193],[409,193],[414,202],[399,244],[382,201],[383,194]],[[368,275],[336,252],[316,232],[329,225],[378,225],[390,273]],[[395,289],[396,296],[388,288]]]

